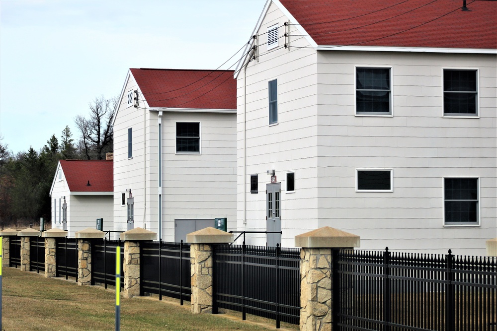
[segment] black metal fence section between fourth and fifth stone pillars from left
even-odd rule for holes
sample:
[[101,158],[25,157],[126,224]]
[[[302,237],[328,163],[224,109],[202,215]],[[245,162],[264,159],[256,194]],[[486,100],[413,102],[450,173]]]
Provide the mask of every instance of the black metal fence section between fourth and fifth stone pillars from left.
[[[124,241],[93,239],[91,241],[91,285],[95,283],[116,286],[116,247],[121,247],[120,263],[123,270]],[[124,272],[121,271],[120,287],[124,288]]]

